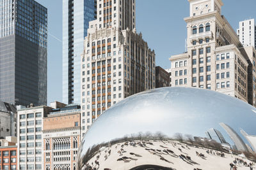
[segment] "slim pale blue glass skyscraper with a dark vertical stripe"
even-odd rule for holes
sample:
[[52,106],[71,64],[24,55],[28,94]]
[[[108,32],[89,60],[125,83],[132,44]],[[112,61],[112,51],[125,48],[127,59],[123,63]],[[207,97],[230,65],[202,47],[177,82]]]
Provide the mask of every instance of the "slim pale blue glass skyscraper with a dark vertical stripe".
[[63,103],[80,104],[81,54],[95,0],[63,0]]

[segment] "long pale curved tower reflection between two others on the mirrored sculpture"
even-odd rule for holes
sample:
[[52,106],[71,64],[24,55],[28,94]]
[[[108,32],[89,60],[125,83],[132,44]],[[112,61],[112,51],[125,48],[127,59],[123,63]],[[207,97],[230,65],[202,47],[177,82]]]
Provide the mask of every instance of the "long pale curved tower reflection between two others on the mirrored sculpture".
[[234,129],[232,129],[232,127],[230,127],[229,125],[224,124],[224,123],[220,123],[220,125],[221,125],[221,127],[223,127],[223,129],[225,129],[227,134],[230,136],[230,138],[234,142],[237,150],[248,152],[248,148],[245,145],[243,139],[237,134],[236,131],[234,131]]

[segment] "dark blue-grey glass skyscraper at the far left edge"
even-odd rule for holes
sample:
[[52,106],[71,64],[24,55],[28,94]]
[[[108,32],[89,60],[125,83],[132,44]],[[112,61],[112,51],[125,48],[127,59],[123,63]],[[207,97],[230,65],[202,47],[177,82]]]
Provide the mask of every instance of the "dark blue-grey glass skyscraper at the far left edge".
[[0,0],[0,101],[47,104],[47,8]]

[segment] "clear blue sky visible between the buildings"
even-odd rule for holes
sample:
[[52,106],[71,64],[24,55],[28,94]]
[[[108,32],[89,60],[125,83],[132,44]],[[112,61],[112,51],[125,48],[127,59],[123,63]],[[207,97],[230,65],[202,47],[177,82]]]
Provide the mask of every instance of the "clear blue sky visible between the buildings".
[[[47,103],[62,101],[62,0],[36,0],[48,9]],[[78,0],[77,0],[78,1]],[[82,0],[79,0],[82,1]],[[256,18],[256,0],[222,0],[222,15],[236,31]],[[156,66],[170,68],[171,55],[185,51],[188,0],[136,0],[136,30],[156,52]]]

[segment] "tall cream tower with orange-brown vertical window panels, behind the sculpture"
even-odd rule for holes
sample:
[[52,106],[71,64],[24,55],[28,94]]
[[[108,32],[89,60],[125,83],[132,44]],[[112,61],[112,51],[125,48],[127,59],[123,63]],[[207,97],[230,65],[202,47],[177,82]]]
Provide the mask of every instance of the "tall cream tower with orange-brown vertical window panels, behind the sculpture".
[[83,135],[110,106],[156,87],[155,52],[136,32],[135,4],[97,0],[97,20],[89,22],[81,59]]

